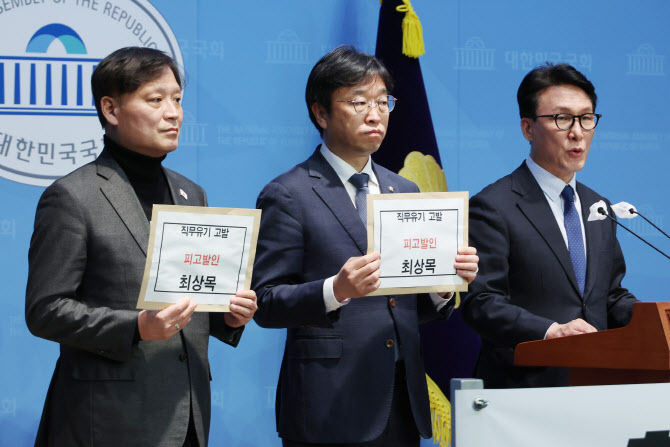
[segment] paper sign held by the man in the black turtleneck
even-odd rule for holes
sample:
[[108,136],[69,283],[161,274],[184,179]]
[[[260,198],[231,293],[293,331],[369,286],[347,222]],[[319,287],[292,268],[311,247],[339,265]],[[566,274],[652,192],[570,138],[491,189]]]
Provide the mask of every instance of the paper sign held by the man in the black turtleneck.
[[260,210],[155,205],[137,307],[189,297],[199,311],[228,311],[251,284]]

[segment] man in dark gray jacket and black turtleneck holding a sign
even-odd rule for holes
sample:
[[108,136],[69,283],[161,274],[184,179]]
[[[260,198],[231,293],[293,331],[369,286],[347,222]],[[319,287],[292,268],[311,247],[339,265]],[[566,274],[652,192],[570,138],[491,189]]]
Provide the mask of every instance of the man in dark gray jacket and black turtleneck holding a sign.
[[60,343],[35,445],[206,446],[209,335],[236,346],[256,297],[239,291],[225,314],[188,298],[136,310],[153,204],[207,198],[161,166],[183,118],[170,57],[117,50],[91,84],[105,148],[44,191],[30,244],[26,322]]

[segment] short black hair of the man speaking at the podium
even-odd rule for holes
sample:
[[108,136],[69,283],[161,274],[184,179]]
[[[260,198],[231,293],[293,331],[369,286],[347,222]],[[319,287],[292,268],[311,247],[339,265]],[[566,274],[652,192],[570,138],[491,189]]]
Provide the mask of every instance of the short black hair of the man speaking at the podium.
[[574,85],[586,93],[591,99],[593,111],[596,111],[596,102],[598,96],[596,89],[575,67],[569,64],[552,64],[547,62],[544,65],[531,70],[519,85],[516,93],[516,100],[519,103],[519,116],[521,118],[530,118],[537,114],[537,103],[540,93],[555,85]]

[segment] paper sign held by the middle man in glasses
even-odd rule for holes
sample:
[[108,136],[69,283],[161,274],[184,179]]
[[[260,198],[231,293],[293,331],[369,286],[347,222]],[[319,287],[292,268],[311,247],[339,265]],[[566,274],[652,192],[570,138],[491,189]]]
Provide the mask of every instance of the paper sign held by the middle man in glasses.
[[458,247],[467,245],[467,199],[463,192],[368,195],[368,252],[381,253],[381,286],[371,295],[467,290],[454,268]]

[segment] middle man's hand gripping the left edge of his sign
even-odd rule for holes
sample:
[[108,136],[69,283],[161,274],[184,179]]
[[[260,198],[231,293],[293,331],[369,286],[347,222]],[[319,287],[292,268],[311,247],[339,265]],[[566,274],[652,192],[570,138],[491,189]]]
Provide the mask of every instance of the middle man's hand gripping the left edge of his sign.
[[333,280],[335,299],[340,303],[347,298],[360,298],[374,292],[381,285],[378,252],[349,258]]

